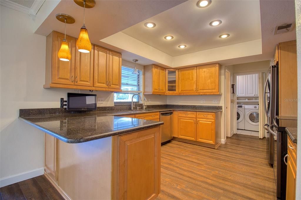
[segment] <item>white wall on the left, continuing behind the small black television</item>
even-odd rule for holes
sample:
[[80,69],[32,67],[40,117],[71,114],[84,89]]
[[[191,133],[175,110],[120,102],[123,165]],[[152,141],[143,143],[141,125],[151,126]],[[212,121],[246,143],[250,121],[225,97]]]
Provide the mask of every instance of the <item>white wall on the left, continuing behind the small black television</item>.
[[[20,108],[59,108],[60,98],[73,89],[44,89],[46,38],[33,33],[35,23],[27,14],[1,6],[0,68],[0,180],[41,169],[44,134],[18,119]],[[123,61],[123,64],[133,63]],[[143,66],[137,65],[141,68]],[[82,93],[89,91],[81,90]],[[113,106],[112,92],[93,92],[104,98],[98,106]],[[166,97],[149,95],[150,104],[166,104]],[[40,170],[41,171],[41,170]]]

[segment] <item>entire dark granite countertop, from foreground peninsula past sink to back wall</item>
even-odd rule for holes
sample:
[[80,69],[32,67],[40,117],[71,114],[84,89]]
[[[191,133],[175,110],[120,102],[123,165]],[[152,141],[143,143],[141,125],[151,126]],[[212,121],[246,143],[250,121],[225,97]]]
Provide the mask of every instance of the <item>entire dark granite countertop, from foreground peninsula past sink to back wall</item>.
[[[43,115],[43,110],[47,114]],[[143,114],[172,110],[198,112],[222,111],[219,107],[173,108],[170,106],[161,106],[160,108],[146,108],[146,110],[133,111],[93,111],[83,113],[49,114],[53,112],[61,113],[62,111],[57,108],[54,108],[53,111],[49,108],[20,109],[19,119],[64,142],[81,143],[163,125],[163,122],[118,117],[119,115]],[[26,114],[30,116],[26,116]]]

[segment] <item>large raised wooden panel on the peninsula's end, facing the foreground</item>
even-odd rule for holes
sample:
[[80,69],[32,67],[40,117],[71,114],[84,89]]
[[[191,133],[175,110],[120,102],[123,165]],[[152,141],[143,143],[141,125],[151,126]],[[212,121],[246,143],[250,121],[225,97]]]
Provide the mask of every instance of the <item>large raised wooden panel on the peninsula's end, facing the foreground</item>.
[[113,199],[155,199],[160,193],[159,127],[116,137],[119,180]]

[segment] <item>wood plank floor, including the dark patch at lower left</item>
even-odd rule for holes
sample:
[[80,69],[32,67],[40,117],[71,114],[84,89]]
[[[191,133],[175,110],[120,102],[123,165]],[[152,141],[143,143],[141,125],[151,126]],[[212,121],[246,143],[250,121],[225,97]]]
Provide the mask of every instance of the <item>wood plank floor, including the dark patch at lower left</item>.
[[[210,149],[172,141],[161,149],[157,199],[276,199],[265,139],[235,134]],[[44,175],[0,188],[0,199],[59,199]]]

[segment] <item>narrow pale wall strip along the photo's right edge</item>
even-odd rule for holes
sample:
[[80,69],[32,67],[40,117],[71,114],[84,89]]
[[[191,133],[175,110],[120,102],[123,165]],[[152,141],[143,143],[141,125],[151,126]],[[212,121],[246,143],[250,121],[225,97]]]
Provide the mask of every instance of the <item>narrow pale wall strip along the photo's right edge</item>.
[[[298,121],[301,122],[301,0],[295,0],[296,35],[297,35],[297,66],[298,66]],[[297,184],[296,199],[301,199],[301,126],[298,126],[297,140]]]

